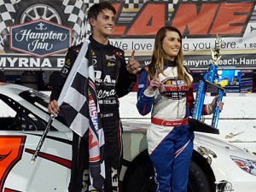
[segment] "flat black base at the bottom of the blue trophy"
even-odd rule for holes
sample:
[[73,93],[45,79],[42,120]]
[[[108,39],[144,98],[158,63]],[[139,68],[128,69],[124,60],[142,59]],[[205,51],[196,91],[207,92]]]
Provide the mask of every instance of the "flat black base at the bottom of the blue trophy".
[[219,134],[218,129],[212,127],[211,125],[207,125],[200,120],[189,118],[189,126],[192,131]]

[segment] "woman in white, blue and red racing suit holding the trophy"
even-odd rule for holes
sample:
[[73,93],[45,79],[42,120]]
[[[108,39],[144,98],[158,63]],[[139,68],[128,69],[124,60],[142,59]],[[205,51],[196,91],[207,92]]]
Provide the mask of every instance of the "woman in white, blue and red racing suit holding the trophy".
[[[193,103],[193,78],[183,66],[182,35],[173,26],[157,32],[152,61],[141,71],[137,109],[151,112],[147,131],[148,154],[154,165],[156,191],[187,192],[189,162],[194,132],[188,117]],[[203,114],[211,114],[216,101],[204,105]],[[219,102],[222,110],[224,103]]]

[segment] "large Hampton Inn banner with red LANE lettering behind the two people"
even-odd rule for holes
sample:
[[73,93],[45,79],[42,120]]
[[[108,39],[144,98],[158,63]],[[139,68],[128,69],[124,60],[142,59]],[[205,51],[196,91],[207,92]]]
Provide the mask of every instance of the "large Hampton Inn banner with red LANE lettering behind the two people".
[[[40,3],[39,3],[40,2]],[[90,34],[91,0],[0,0],[0,69],[59,70],[69,45]],[[141,66],[151,60],[161,26],[183,34],[184,64],[207,69],[217,35],[224,38],[219,67],[256,68],[255,1],[113,1],[117,10],[111,44],[127,58],[136,50]]]

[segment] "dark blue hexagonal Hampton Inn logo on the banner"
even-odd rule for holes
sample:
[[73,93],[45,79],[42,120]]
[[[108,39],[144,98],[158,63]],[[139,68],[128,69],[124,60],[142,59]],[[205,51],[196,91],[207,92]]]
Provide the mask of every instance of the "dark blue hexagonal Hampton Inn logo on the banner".
[[71,29],[48,20],[33,20],[10,26],[10,49],[45,57],[67,51]]

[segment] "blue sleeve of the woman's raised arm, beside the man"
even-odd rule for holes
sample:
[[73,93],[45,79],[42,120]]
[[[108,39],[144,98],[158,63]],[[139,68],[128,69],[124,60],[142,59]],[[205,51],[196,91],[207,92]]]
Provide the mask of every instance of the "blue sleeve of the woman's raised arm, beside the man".
[[148,74],[146,70],[143,68],[141,70],[137,89],[137,110],[142,115],[150,113],[154,103],[154,96],[148,97],[144,95],[144,90],[148,88],[148,85]]

